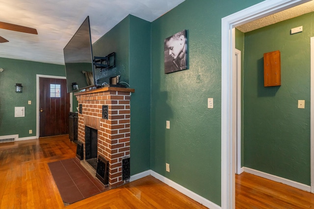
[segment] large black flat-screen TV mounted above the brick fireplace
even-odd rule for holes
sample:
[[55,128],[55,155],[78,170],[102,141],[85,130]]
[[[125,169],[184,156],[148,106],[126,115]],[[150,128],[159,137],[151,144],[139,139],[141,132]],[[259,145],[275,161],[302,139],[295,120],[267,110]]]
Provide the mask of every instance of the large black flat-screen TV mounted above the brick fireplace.
[[80,25],[63,49],[67,92],[95,86],[89,17]]

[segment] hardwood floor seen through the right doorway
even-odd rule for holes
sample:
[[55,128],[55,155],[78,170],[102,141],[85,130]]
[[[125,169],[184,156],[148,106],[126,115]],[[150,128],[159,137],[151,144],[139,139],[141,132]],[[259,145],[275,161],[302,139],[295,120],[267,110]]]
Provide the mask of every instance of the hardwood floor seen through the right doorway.
[[236,209],[310,209],[314,194],[243,172],[235,175]]

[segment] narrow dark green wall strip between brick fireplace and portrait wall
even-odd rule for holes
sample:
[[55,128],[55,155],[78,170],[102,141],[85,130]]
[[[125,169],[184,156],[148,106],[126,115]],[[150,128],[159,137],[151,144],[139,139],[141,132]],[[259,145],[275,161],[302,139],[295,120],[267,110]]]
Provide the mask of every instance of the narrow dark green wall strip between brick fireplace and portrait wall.
[[131,175],[150,169],[151,23],[130,15]]

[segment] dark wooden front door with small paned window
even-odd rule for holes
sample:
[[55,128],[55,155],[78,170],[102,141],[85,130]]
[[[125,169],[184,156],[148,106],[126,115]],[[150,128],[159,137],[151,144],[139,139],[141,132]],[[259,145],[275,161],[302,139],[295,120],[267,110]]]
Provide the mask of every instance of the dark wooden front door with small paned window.
[[70,95],[66,80],[39,78],[39,137],[68,134]]

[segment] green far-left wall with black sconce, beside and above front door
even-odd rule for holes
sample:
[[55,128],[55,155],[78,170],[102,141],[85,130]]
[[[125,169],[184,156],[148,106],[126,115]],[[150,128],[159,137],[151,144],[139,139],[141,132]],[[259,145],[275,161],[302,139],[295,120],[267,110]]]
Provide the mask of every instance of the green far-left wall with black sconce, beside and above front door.
[[[36,136],[36,74],[65,76],[64,66],[0,58],[0,68],[0,136]],[[23,93],[15,92],[16,83],[22,83]],[[25,107],[25,117],[14,117],[14,107]]]

